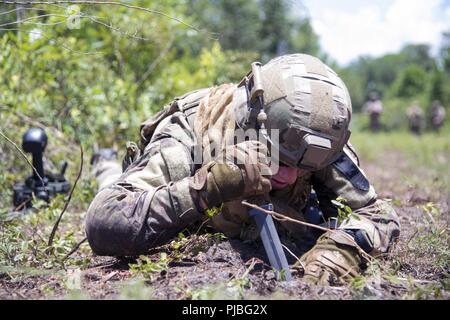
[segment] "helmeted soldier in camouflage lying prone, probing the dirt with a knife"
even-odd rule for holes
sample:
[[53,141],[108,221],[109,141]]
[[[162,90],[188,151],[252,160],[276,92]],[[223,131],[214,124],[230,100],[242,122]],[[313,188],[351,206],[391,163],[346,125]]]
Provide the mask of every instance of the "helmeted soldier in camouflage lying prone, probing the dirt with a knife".
[[[166,105],[141,125],[139,145],[128,144],[122,166],[98,161],[101,190],[86,218],[96,254],[145,254],[206,220],[229,238],[256,239],[242,200],[264,196],[275,211],[306,220],[313,191],[322,222],[336,230],[317,236],[301,256],[308,281],[351,278],[363,268],[361,250],[388,252],[399,220],[378,199],[348,141],[352,106],[345,84],[305,54],[275,58],[258,70],[240,84],[197,90]],[[252,99],[255,91],[263,92],[262,105]],[[236,139],[239,132],[247,138]],[[359,217],[331,223],[337,197]],[[210,217],[212,208],[219,213]],[[314,231],[276,224],[299,241]]]

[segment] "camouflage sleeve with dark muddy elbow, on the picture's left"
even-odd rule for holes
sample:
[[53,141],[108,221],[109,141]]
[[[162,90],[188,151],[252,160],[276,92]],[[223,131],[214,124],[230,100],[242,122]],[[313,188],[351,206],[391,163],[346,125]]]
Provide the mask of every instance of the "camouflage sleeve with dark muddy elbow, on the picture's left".
[[99,255],[147,252],[199,220],[196,193],[189,187],[194,166],[189,149],[173,138],[149,144],[88,209],[86,233]]

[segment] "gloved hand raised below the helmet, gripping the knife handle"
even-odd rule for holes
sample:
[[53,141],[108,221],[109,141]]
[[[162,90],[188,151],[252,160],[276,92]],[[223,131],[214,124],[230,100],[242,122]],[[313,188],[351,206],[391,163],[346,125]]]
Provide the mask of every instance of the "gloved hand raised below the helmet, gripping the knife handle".
[[227,147],[225,152],[225,161],[211,161],[191,178],[190,185],[199,192],[203,210],[271,190],[265,145],[244,141]]

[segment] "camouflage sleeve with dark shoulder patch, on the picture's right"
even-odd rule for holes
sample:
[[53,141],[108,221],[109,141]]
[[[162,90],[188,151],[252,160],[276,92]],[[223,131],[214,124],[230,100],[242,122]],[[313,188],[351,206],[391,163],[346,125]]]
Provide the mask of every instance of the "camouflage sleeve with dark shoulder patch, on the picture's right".
[[[367,253],[374,256],[386,253],[399,237],[397,213],[390,203],[377,199],[375,189],[359,167],[350,145],[344,148],[343,155],[335,163],[314,174],[313,188],[327,218],[337,215],[331,200],[337,197],[346,200],[355,215],[345,219],[338,229],[350,233]],[[352,245],[339,233],[330,233],[329,236],[336,242]]]

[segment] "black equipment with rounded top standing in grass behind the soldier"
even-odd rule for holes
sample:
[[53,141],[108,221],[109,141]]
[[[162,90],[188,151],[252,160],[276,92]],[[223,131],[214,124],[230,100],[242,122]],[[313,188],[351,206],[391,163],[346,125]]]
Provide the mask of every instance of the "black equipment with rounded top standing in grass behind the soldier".
[[24,183],[17,183],[13,187],[13,204],[18,210],[31,208],[33,195],[48,202],[57,193],[67,193],[70,190],[70,183],[64,177],[67,161],[62,163],[59,173],[44,171],[43,155],[47,141],[47,135],[41,128],[30,128],[22,137],[22,149],[32,154],[34,169]]

